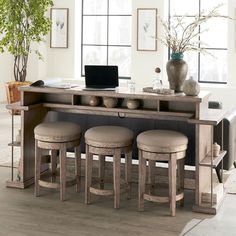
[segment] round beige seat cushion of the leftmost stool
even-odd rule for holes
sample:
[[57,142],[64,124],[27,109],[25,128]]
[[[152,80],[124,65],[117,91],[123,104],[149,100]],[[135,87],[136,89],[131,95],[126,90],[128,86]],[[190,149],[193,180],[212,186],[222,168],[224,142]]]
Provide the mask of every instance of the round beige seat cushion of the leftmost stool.
[[80,138],[81,130],[70,122],[45,122],[34,128],[34,136],[44,142],[70,142]]

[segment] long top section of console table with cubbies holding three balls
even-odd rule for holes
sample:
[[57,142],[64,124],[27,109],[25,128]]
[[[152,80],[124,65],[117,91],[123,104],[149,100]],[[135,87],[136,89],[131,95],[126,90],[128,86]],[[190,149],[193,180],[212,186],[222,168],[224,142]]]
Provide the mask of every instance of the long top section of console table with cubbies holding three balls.
[[[43,107],[54,111],[71,113],[110,115],[120,118],[147,118],[147,119],[168,119],[182,120],[198,119],[203,101],[209,97],[208,92],[201,92],[199,96],[187,97],[182,94],[160,95],[136,91],[128,93],[123,90],[114,91],[83,91],[82,89],[45,89],[37,87],[25,87],[23,104],[31,106],[41,104]],[[99,98],[97,106],[90,106],[91,96]],[[118,105],[114,108],[107,108],[103,104],[104,97],[118,99]],[[140,106],[133,110],[127,108],[127,100],[139,100]]]

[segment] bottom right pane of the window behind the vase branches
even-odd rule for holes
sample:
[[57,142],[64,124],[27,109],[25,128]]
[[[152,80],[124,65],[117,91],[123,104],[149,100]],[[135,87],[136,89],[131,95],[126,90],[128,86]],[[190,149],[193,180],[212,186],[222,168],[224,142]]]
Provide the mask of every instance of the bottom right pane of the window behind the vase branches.
[[226,82],[227,81],[227,51],[209,50],[215,56],[200,55],[200,81]]

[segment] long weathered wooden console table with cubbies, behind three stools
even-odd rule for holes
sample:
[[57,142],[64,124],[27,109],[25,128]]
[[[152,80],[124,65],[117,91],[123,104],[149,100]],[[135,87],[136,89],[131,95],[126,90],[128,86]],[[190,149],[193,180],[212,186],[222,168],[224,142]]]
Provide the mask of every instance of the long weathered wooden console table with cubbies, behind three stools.
[[[222,122],[225,112],[208,109],[209,92],[201,91],[199,96],[184,94],[158,95],[136,91],[83,91],[80,87],[55,89],[25,86],[20,88],[21,101],[21,169],[18,181],[8,181],[8,187],[25,188],[34,182],[34,127],[45,120],[48,111],[105,115],[145,119],[179,120],[195,125],[196,184],[194,211],[216,214],[221,202],[214,188],[212,168],[223,161],[225,151],[215,158],[212,152],[213,126]],[[102,102],[90,106],[91,96],[115,97],[118,106],[106,108]],[[126,106],[127,100],[138,99],[140,107],[132,110]],[[14,109],[15,105],[8,105]],[[223,127],[223,126],[222,126]],[[223,128],[222,128],[223,132]],[[222,142],[223,143],[223,142]],[[221,145],[222,146],[222,145]],[[219,189],[219,186],[217,187]],[[223,193],[223,184],[220,191]],[[218,190],[217,190],[218,191]],[[222,194],[221,194],[222,195]]]

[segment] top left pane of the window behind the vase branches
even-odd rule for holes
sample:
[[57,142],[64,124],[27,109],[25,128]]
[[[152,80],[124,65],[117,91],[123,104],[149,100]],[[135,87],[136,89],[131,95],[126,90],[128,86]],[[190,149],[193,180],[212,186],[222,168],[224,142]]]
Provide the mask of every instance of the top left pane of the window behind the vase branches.
[[[209,0],[208,0],[209,1]],[[171,0],[171,15],[196,15],[199,12],[198,0]]]

